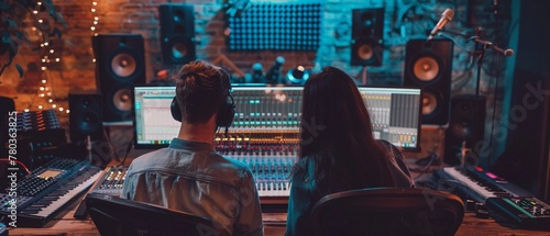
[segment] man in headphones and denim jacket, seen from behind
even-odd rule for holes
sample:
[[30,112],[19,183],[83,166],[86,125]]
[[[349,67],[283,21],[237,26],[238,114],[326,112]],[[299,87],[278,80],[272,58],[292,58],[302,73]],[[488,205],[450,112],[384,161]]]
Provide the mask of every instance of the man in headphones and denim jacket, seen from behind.
[[230,89],[222,68],[201,60],[182,67],[172,111],[179,134],[169,147],[133,160],[122,198],[210,218],[230,235],[263,235],[252,172],[215,150],[216,130],[234,116]]

